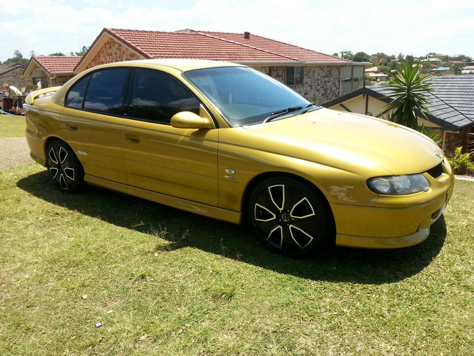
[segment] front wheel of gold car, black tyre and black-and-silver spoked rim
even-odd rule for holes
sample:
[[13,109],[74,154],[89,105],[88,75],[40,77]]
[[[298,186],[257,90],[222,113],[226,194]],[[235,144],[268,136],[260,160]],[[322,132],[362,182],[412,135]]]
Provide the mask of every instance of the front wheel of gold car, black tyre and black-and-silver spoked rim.
[[267,248],[301,257],[330,243],[332,215],[315,189],[288,177],[269,178],[255,187],[248,216]]

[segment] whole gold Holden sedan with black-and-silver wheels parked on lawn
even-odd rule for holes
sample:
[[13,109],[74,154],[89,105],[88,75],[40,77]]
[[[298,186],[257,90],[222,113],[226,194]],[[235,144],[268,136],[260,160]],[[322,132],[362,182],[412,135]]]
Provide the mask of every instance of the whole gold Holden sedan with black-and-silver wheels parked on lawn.
[[453,172],[426,136],[316,106],[246,66],[139,60],[26,99],[31,157],[65,193],[82,182],[231,223],[271,250],[418,244]]

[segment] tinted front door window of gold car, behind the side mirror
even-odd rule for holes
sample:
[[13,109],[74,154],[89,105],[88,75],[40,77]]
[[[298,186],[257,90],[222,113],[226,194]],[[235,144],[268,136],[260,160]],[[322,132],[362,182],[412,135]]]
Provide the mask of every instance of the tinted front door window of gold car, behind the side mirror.
[[130,87],[128,116],[169,123],[181,111],[199,115],[199,101],[176,79],[154,71],[137,69]]

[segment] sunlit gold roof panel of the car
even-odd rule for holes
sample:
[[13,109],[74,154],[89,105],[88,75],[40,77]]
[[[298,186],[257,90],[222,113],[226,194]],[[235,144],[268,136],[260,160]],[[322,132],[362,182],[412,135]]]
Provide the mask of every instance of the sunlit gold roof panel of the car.
[[[221,61],[208,61],[202,59],[140,59],[137,61],[126,61],[126,62],[118,62],[118,63],[109,63],[105,66],[117,66],[118,64],[133,66],[134,63],[140,63],[149,65],[150,68],[156,66],[166,66],[174,69],[178,69],[181,71],[191,70],[191,69],[201,69],[201,68],[212,68],[212,67],[235,67],[235,66],[243,66],[237,63],[231,62],[221,62]],[[102,66],[104,67],[104,66]]]

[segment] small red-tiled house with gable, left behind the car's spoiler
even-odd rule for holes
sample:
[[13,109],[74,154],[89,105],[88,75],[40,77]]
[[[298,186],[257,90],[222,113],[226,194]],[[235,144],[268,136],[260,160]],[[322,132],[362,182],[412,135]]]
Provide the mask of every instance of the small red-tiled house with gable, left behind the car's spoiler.
[[43,88],[63,85],[74,76],[74,67],[82,57],[78,56],[32,56],[23,71],[29,84],[41,82]]

